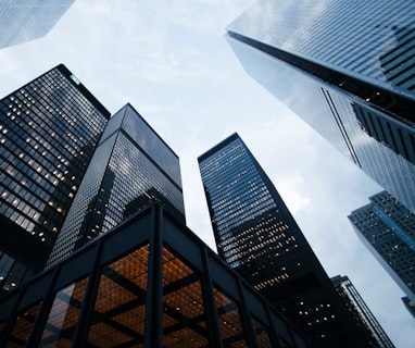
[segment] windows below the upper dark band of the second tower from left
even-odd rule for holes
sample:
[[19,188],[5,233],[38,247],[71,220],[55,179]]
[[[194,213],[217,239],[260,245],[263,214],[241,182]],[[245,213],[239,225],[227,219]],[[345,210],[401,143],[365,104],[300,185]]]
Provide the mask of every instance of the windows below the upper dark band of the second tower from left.
[[[98,171],[93,170],[96,166]],[[100,191],[100,188],[104,191]],[[74,236],[81,236],[79,240],[85,240],[86,236],[93,237],[114,227],[124,220],[125,207],[151,188],[163,192],[184,213],[181,190],[140,149],[121,132],[106,139],[97,149],[51,259],[71,252]],[[85,214],[85,211],[91,213]]]

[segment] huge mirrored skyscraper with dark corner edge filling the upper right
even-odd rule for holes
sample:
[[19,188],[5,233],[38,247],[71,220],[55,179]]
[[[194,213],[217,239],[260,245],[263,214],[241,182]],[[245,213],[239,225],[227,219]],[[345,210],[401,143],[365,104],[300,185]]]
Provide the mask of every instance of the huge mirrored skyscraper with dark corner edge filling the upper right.
[[262,0],[227,28],[244,70],[415,212],[415,3]]

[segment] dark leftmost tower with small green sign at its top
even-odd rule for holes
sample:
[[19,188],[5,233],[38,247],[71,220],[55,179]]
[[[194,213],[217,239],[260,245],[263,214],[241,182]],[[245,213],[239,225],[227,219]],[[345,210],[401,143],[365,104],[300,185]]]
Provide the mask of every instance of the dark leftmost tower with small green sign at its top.
[[0,287],[42,269],[110,112],[59,65],[0,100]]

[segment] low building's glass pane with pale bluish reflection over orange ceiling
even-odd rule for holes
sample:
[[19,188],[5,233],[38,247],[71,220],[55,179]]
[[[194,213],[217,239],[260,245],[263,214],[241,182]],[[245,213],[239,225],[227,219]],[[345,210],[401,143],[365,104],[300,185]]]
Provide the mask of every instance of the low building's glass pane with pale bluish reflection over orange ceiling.
[[42,347],[71,347],[87,282],[83,278],[56,293],[41,335]]

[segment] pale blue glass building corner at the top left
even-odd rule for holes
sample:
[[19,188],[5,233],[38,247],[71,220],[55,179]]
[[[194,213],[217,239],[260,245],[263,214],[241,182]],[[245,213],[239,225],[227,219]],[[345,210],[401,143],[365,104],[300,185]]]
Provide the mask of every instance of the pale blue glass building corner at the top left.
[[0,4],[0,48],[47,35],[75,0],[3,0]]

